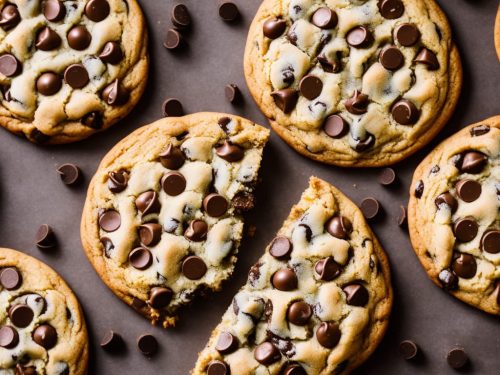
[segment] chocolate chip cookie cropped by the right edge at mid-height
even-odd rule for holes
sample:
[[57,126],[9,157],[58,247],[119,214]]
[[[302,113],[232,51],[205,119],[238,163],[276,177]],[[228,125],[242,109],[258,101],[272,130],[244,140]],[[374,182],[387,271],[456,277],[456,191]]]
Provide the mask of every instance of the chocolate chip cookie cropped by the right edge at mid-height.
[[411,242],[432,280],[500,315],[500,116],[462,129],[419,165]]

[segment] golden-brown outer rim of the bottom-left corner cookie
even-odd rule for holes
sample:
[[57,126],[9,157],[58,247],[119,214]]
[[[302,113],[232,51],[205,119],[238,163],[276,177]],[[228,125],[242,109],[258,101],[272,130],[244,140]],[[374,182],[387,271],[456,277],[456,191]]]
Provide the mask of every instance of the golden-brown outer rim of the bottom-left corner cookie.
[[[17,250],[0,247],[0,267],[3,268],[12,266],[17,267],[21,272],[26,272],[27,268],[31,268],[36,272],[42,272],[46,276],[46,279],[50,280],[50,283],[54,286],[54,290],[62,293],[65,296],[67,303],[71,304],[72,307],[78,311],[80,321],[80,331],[78,336],[80,337],[77,338],[77,341],[81,343],[81,350],[78,356],[74,358],[75,362],[72,364],[73,367],[70,366],[70,369],[76,369],[76,372],[74,373],[75,375],[87,374],[89,361],[87,325],[85,323],[82,307],[73,290],[68,286],[61,275],[41,260]],[[36,293],[36,291],[33,292]],[[72,350],[74,350],[74,348],[75,347],[72,347]]]

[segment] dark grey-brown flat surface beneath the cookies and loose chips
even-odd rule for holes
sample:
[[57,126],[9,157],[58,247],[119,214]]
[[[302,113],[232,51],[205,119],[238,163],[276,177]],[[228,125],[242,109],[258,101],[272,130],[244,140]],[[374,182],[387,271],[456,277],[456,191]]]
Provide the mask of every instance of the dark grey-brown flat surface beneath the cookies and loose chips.
[[[0,245],[45,261],[73,288],[90,331],[89,374],[188,374],[232,296],[245,283],[249,267],[272,240],[313,174],[340,188],[355,203],[368,196],[377,198],[385,211],[371,226],[390,258],[394,309],[386,338],[356,373],[454,374],[445,356],[449,349],[462,346],[471,358],[471,366],[462,373],[497,374],[500,319],[435,287],[413,253],[406,231],[397,226],[396,216],[399,205],[407,203],[414,168],[430,149],[459,128],[500,113],[500,64],[493,43],[498,1],[439,1],[450,18],[462,54],[462,97],[438,139],[395,167],[400,181],[395,187],[379,185],[379,171],[375,169],[341,169],[305,159],[273,134],[264,155],[258,205],[247,215],[247,224],[256,225],[257,231],[244,241],[232,280],[221,293],[198,299],[184,309],[178,326],[167,331],[152,327],[125,306],[87,261],[79,235],[86,185],[100,159],[115,143],[162,116],[161,104],[166,97],[179,98],[187,113],[228,112],[267,126],[248,94],[242,68],[246,31],[260,1],[236,0],[242,19],[227,24],[219,18],[217,0],[183,0],[194,27],[185,33],[188,47],[179,53],[167,51],[162,45],[171,27],[171,7],[179,1],[140,2],[151,34],[151,78],[146,94],[129,117],[105,133],[62,147],[34,146],[0,131]],[[229,83],[243,91],[244,102],[239,106],[231,105],[224,97],[224,86]],[[71,188],[62,184],[56,168],[63,163],[80,166],[85,176],[82,185]],[[42,252],[34,245],[36,230],[43,223],[54,229],[59,240],[56,249]],[[122,354],[110,355],[99,347],[108,329],[125,339],[127,348]],[[152,359],[136,349],[136,338],[145,332],[154,334],[160,343],[160,351]],[[399,357],[398,344],[404,339],[419,344],[424,353],[421,361],[408,363]]]

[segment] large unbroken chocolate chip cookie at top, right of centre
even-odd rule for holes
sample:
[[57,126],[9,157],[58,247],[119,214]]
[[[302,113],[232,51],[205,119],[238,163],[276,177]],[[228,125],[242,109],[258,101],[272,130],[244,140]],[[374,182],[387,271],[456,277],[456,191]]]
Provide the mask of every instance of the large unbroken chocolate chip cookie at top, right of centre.
[[393,164],[429,142],[462,71],[433,0],[265,0],[245,76],[274,130],[340,166]]

